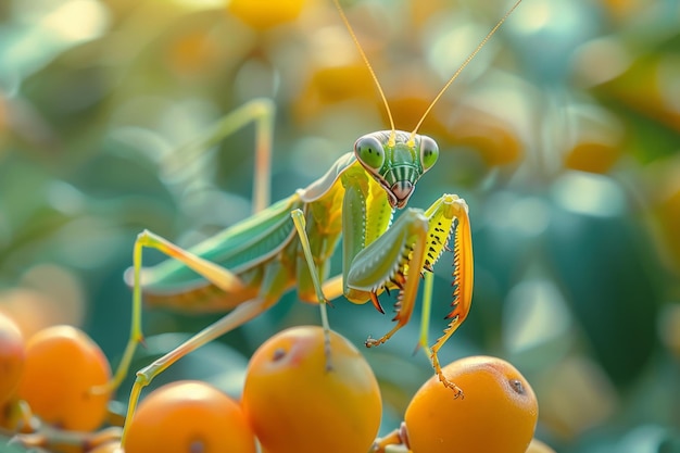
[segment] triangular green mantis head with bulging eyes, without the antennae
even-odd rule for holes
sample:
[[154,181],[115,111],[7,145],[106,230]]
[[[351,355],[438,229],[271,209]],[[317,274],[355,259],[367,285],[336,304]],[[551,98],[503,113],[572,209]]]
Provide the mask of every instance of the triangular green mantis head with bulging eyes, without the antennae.
[[439,147],[428,136],[382,130],[360,137],[354,154],[385,189],[390,205],[402,209],[420,176],[437,162]]

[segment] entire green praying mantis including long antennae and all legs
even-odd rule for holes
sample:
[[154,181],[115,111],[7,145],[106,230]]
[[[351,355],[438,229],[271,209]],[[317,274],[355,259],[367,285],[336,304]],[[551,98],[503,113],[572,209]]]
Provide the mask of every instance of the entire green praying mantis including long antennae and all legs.
[[[431,278],[432,266],[448,248],[450,238],[454,254],[454,292],[449,324],[431,349],[424,331],[420,343],[429,353],[442,383],[451,388],[456,398],[463,394],[443,375],[437,354],[470,309],[474,266],[468,206],[462,198],[448,193],[425,211],[405,206],[419,178],[435,165],[439,154],[435,140],[417,133],[420,124],[520,1],[505,13],[448,80],[414,130],[406,133],[394,127],[368,59],[338,0],[333,0],[382,98],[391,129],[360,137],[354,150],[339,158],[324,176],[268,207],[265,207],[268,186],[264,176],[268,173],[272,141],[274,108],[270,102],[255,100],[243,105],[225,116],[205,142],[194,144],[206,147],[255,122],[254,205],[259,212],[189,250],[149,230],[139,234],[133,267],[126,274],[133,287],[131,332],[111,388],[116,388],[125,378],[136,347],[142,341],[142,289],[150,305],[230,312],[137,373],[130,392],[128,421],[142,388],[154,377],[197,348],[260,315],[295,286],[301,300],[319,304],[327,332],[328,300],[344,295],[357,304],[370,301],[383,313],[378,297],[386,290],[398,291],[394,327],[380,338],[368,338],[366,345],[386,342],[408,323],[420,276],[425,275],[426,281]],[[392,224],[398,209],[404,210]],[[341,236],[342,275],[329,279],[329,259]],[[156,249],[169,260],[142,269],[144,248]],[[426,295],[424,304],[429,303]]]

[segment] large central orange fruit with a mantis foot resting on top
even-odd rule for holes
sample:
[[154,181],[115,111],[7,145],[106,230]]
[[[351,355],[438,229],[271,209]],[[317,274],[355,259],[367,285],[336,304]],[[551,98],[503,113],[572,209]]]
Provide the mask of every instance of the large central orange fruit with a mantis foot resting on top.
[[380,426],[382,400],[368,363],[344,337],[324,330],[284,330],[251,357],[242,405],[263,451],[367,452]]

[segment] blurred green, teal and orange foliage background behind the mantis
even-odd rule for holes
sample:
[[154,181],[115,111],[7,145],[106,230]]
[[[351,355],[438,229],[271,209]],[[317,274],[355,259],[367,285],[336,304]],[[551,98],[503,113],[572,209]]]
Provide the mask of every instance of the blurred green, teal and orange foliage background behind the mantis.
[[[0,310],[27,336],[77,325],[117,364],[136,235],[188,247],[252,210],[252,126],[189,163],[175,152],[245,101],[276,104],[274,200],[388,127],[330,0],[261,3],[0,1]],[[509,7],[343,4],[406,130]],[[473,310],[441,358],[516,365],[539,397],[537,437],[558,452],[680,452],[680,2],[525,0],[420,131],[441,158],[411,205],[461,194],[475,244]],[[451,263],[436,269],[431,340]],[[332,327],[360,347],[391,326],[370,304],[333,305]],[[135,366],[217,317],[144,312]],[[431,374],[414,353],[419,320],[365,351],[383,432]],[[290,293],[154,386],[202,378],[238,393],[259,344],[317,323]]]

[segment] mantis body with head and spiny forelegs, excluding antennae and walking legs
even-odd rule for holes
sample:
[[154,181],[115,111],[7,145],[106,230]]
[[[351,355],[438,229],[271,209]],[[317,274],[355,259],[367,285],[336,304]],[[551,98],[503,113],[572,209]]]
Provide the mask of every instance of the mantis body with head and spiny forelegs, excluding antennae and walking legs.
[[[455,218],[463,231],[456,243],[461,237],[466,242],[456,281],[459,275],[471,281],[467,205],[462,199],[443,196],[427,212],[408,209],[390,227],[394,210],[406,204],[438,154],[429,137],[411,139],[410,134],[396,131],[392,144],[391,135],[381,131],[360,138],[354,151],[338,159],[317,181],[188,251],[229,269],[239,286],[223,291],[184,263],[169,260],[146,272],[148,303],[206,312],[260,301],[266,310],[294,286],[303,301],[335,299],[340,295],[338,289],[328,288],[329,294],[319,295],[312,276],[327,279],[329,259],[343,235],[342,293],[354,303],[370,300],[383,312],[378,294],[396,287],[402,306],[395,331],[408,322],[416,298],[418,279],[406,278],[407,269],[417,269],[415,277],[431,270],[454,230]],[[295,218],[304,219],[303,231],[297,231]],[[299,234],[305,237],[302,241]],[[305,241],[314,274],[305,263]],[[456,305],[452,316],[464,317],[470,286],[459,288],[464,303]]]

